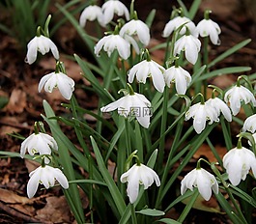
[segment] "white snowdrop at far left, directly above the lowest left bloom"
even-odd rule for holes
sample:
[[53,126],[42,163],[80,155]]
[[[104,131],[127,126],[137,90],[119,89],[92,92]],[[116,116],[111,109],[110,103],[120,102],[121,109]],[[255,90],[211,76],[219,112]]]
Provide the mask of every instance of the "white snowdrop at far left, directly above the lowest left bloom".
[[51,150],[58,150],[53,137],[42,132],[33,133],[21,143],[20,156],[23,158],[26,152],[31,155],[51,154]]

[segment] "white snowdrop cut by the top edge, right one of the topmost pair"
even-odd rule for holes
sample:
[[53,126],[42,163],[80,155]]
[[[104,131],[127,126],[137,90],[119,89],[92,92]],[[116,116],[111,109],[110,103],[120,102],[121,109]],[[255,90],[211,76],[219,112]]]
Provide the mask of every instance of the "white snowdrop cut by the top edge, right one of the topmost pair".
[[114,17],[114,14],[118,16],[125,15],[126,19],[129,19],[128,8],[118,0],[109,0],[105,2],[102,7],[103,23],[108,24]]

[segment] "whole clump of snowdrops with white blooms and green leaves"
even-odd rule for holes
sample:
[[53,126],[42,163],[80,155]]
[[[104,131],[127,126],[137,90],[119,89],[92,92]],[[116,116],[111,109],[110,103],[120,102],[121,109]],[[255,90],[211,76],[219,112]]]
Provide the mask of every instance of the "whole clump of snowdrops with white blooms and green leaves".
[[[38,53],[52,53],[56,68],[41,78],[39,92],[60,91],[71,119],[56,115],[43,100],[43,121],[35,122],[35,132],[20,148],[21,157],[34,157],[41,164],[30,173],[29,198],[39,184],[49,188],[57,181],[78,223],[182,223],[196,202],[213,197],[221,208],[213,211],[227,215],[233,223],[251,222],[251,210],[256,207],[256,75],[245,75],[248,67],[213,69],[250,40],[209,57],[211,47],[221,44],[221,27],[211,19],[209,10],[198,15],[202,17],[199,23],[193,22],[201,1],[194,0],[189,10],[178,2],[181,8],[173,9],[163,27],[166,42],[154,47],[149,45],[155,10],[142,21],[134,1],[128,9],[121,1],[108,0],[102,6],[88,5],[77,21],[65,7],[57,5],[94,57],[92,64],[73,55],[91,84],[85,91],[99,98],[95,111],[77,103],[75,83],[49,39],[50,16],[44,29],[37,29],[36,37],[27,45],[26,62],[35,63]],[[89,22],[97,27],[98,36],[86,33]],[[152,56],[156,49],[164,50],[163,61]],[[226,90],[208,85],[210,78],[225,73],[241,75]],[[244,120],[238,116],[242,112]],[[95,118],[94,127],[85,114]],[[60,123],[73,127],[82,151],[63,133]],[[241,131],[234,133],[231,123]],[[44,126],[49,127],[47,131]],[[211,139],[217,129],[221,129],[217,133],[223,135],[219,138],[224,139],[227,150],[223,157]],[[233,136],[237,136],[236,142]],[[171,142],[168,147],[166,139]],[[194,169],[183,172],[203,143],[210,146],[217,162],[199,158]],[[114,164],[112,173],[109,162]],[[88,173],[88,178],[74,169],[77,166]],[[181,182],[178,177],[182,177]],[[86,218],[78,189],[90,201]],[[177,220],[164,216],[185,201]]]

